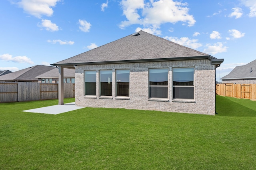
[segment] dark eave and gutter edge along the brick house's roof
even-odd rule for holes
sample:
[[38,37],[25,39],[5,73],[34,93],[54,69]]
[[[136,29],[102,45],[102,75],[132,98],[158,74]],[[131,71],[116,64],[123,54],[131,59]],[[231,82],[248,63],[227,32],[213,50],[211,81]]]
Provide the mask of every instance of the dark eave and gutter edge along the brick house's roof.
[[158,58],[158,59],[134,59],[134,60],[118,60],[118,61],[96,61],[96,62],[84,62],[84,63],[54,63],[53,66],[63,66],[64,68],[72,68],[76,65],[96,65],[96,64],[120,64],[120,63],[141,63],[141,62],[153,62],[153,61],[177,61],[177,60],[191,60],[191,59],[209,59],[213,65],[220,65],[224,59],[216,59],[211,55],[204,56],[191,56],[191,57],[172,57],[172,58]]

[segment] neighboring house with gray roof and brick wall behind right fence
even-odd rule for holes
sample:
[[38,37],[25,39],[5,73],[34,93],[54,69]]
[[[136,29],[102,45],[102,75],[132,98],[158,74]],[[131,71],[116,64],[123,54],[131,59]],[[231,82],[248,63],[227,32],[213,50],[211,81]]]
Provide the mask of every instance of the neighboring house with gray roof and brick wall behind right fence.
[[235,67],[221,79],[222,83],[256,84],[256,60],[246,65]]

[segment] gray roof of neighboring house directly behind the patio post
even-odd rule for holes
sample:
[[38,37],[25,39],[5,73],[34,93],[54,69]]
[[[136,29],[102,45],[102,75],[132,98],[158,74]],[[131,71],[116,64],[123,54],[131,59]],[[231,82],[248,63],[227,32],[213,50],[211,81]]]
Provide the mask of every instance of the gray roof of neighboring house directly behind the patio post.
[[[75,77],[75,69],[63,69],[64,77]],[[36,78],[58,78],[59,77],[59,69],[56,67],[46,73],[36,76]]]

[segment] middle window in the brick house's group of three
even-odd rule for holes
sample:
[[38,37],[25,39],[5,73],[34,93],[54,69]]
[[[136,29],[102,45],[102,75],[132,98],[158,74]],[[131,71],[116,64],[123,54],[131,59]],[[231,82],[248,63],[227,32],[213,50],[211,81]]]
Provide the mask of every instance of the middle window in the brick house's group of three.
[[100,96],[112,96],[112,70],[100,71]]

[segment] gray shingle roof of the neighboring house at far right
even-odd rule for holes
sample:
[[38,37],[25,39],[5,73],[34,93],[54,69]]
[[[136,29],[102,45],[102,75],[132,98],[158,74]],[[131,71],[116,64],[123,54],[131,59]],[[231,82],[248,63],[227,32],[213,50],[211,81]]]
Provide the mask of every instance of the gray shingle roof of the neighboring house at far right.
[[256,79],[256,60],[246,65],[235,67],[228,75],[221,79]]

